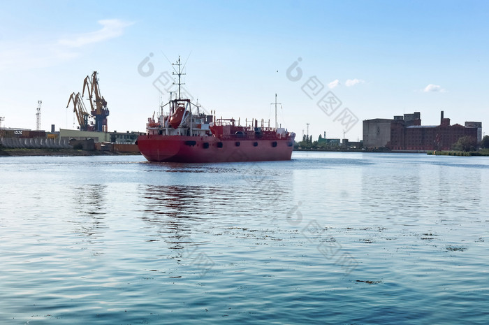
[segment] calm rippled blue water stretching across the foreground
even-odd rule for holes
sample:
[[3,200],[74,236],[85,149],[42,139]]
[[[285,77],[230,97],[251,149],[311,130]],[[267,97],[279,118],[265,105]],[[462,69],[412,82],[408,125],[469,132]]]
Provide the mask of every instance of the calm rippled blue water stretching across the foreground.
[[0,158],[0,324],[488,324],[489,159]]

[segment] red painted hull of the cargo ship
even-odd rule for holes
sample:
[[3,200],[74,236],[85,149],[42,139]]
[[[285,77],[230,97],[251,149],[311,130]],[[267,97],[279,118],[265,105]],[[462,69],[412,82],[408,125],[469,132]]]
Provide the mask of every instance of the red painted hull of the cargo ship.
[[291,160],[293,140],[149,135],[138,137],[138,147],[147,160],[158,162],[276,161]]

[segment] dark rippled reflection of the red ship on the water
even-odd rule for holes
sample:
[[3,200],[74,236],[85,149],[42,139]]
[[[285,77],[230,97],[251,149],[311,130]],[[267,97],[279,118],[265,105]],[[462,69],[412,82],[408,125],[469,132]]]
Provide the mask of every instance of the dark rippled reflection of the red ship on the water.
[[167,248],[179,250],[207,243],[215,222],[219,222],[221,229],[232,229],[261,215],[263,224],[272,226],[277,218],[276,208],[291,201],[293,188],[275,185],[272,188],[266,185],[266,188],[248,184],[222,187],[141,185],[139,192],[144,193],[142,219],[155,229],[147,236],[154,240],[156,232]]

